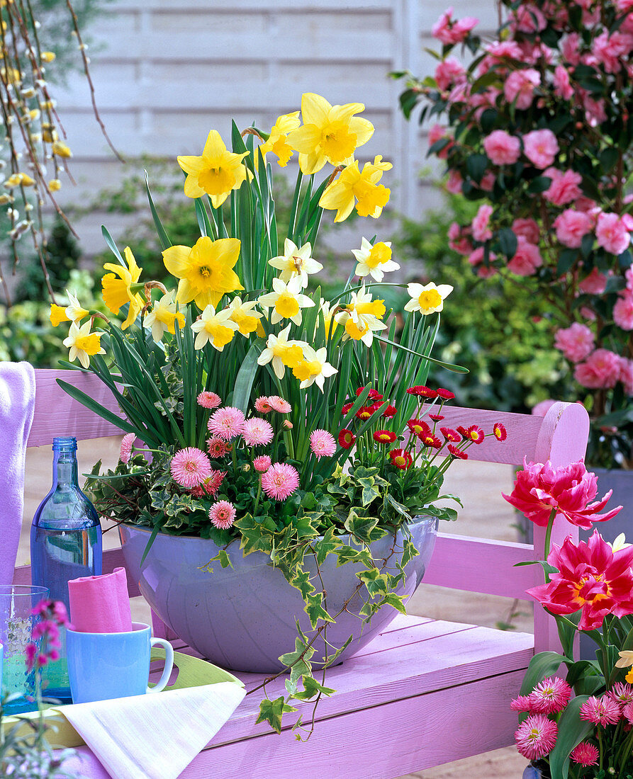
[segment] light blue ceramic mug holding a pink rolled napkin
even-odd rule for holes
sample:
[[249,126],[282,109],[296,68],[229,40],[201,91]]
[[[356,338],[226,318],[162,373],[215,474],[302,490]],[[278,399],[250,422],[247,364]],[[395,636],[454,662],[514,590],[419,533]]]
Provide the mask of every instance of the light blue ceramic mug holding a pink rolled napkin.
[[[150,653],[164,647],[164,670],[154,687],[147,686]],[[174,665],[172,644],[152,638],[149,625],[133,622],[129,633],[79,633],[66,630],[66,654],[72,703],[160,693]]]

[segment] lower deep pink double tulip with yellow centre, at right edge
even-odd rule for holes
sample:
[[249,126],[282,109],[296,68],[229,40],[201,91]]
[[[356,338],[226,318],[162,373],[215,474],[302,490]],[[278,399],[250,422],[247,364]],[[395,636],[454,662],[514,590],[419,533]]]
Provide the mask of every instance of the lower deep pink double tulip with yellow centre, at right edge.
[[[553,544],[547,562],[557,573],[550,574],[549,583],[530,587],[526,592],[553,614],[573,614],[580,609],[578,628],[596,630],[607,614],[624,617],[633,613],[633,546],[614,552],[594,530],[589,541],[579,541],[578,545],[572,544],[570,538],[560,547]],[[617,713],[614,721],[619,719],[617,703],[606,696],[599,703],[605,710]],[[592,709],[591,704],[588,709]]]

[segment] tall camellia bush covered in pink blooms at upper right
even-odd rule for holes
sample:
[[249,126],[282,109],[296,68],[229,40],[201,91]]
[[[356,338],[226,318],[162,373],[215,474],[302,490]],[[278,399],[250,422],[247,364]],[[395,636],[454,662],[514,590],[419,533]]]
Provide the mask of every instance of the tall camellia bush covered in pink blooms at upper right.
[[422,104],[447,188],[480,203],[451,246],[480,277],[537,280],[592,414],[589,459],[630,467],[633,0],[500,5],[490,40],[477,19],[440,16],[437,68],[408,77],[401,106]]

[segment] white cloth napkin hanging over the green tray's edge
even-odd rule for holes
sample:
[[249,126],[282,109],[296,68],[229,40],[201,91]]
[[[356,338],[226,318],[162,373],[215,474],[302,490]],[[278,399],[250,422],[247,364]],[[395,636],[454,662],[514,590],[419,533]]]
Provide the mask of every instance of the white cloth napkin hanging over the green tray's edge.
[[114,779],[176,779],[245,695],[233,682],[217,682],[60,711]]

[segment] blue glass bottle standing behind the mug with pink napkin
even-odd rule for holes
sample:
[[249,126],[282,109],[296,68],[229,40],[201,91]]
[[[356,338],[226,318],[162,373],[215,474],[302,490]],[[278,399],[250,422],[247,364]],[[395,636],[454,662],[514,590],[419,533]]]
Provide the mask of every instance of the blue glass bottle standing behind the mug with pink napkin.
[[[53,485],[35,512],[30,530],[31,576],[69,609],[68,582],[101,574],[101,524],[80,490],[77,439],[53,439]],[[44,668],[44,696],[70,700],[65,634],[59,661]]]

